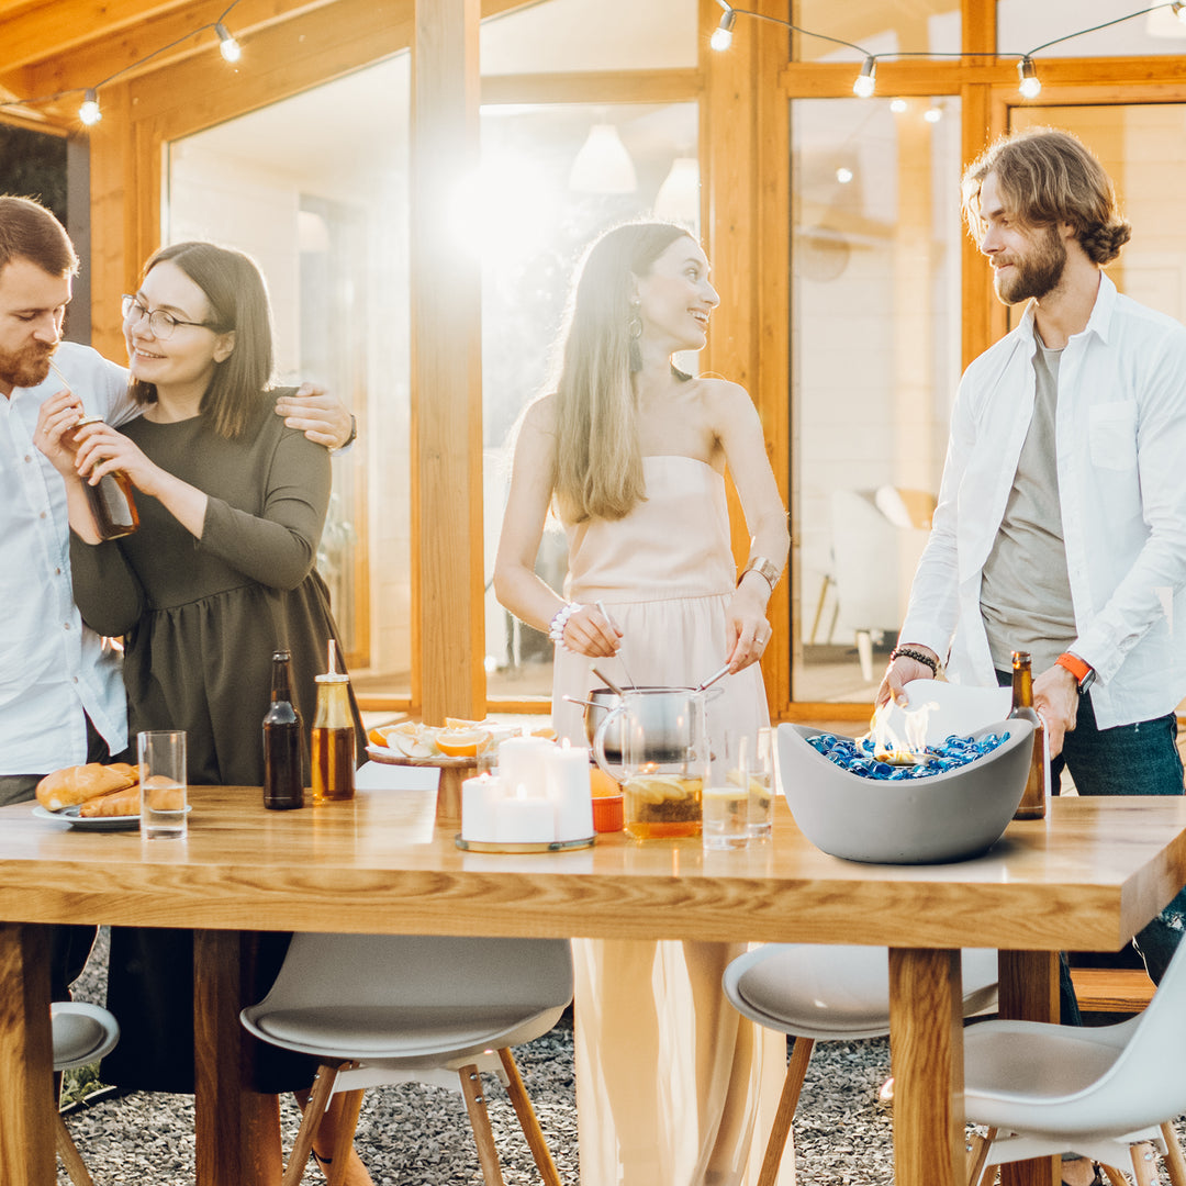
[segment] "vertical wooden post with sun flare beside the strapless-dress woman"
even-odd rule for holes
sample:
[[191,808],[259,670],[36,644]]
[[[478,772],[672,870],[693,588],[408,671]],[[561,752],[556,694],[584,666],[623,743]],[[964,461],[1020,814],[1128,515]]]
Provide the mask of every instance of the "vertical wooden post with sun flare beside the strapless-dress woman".
[[[415,0],[412,46],[413,701],[484,714],[478,0]],[[473,211],[476,213],[477,211]]]

